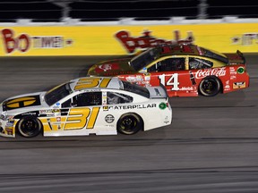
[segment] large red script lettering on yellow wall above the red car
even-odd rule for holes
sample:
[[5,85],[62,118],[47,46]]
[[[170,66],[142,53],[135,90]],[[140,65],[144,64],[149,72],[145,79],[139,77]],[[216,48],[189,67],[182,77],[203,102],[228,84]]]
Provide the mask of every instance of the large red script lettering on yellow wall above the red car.
[[146,49],[152,46],[158,46],[161,44],[192,44],[193,43],[193,33],[192,31],[187,32],[185,39],[180,39],[179,30],[174,31],[175,39],[166,40],[162,38],[155,38],[150,35],[151,31],[143,31],[143,36],[141,37],[132,37],[130,32],[126,30],[121,30],[116,33],[115,37],[125,46],[128,53],[133,54],[136,48]]

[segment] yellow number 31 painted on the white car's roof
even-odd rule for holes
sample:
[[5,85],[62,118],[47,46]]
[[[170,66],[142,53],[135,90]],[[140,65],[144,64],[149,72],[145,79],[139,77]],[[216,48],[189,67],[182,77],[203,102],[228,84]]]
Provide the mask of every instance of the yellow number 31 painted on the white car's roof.
[[107,88],[107,85],[111,78],[98,78],[98,77],[89,77],[89,78],[82,78],[78,80],[76,86],[74,87],[75,90],[83,89],[83,88]]

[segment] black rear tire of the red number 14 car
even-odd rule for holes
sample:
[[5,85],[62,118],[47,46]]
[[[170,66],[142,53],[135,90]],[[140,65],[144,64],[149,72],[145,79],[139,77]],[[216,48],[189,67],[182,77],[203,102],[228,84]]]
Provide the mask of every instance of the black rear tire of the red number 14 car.
[[206,77],[199,84],[199,93],[202,96],[216,96],[221,88],[220,81],[217,77]]

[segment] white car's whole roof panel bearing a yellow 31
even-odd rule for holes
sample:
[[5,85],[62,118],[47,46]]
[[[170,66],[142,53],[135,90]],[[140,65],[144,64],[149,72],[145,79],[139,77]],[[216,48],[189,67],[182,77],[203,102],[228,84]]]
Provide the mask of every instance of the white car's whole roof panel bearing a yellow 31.
[[81,77],[70,80],[70,88],[73,91],[89,90],[96,88],[123,89],[123,83],[117,77]]

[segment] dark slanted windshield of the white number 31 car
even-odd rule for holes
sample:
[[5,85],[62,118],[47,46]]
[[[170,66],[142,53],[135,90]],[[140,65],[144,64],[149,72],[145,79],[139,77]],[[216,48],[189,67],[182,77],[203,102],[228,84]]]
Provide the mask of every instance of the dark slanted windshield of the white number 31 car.
[[47,91],[45,95],[45,101],[47,105],[54,105],[56,102],[64,98],[65,96],[70,95],[72,89],[70,88],[69,83],[64,83],[62,85],[57,86],[56,88],[52,88]]

